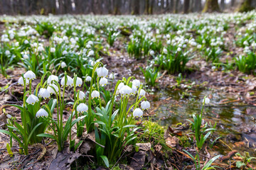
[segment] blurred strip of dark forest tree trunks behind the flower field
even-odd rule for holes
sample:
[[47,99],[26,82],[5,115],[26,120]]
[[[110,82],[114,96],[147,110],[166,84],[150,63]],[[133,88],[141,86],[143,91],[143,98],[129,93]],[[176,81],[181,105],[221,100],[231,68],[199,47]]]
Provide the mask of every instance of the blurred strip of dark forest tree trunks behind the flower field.
[[113,14],[250,11],[256,0],[0,0],[0,14]]

